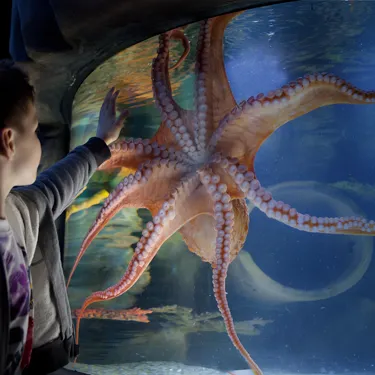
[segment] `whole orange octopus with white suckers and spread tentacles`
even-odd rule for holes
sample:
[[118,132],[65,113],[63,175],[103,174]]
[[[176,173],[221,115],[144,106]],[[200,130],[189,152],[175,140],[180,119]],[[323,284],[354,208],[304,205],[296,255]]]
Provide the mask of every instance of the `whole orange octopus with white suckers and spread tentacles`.
[[80,259],[96,235],[120,210],[146,208],[152,214],[123,277],[116,285],[94,292],[77,316],[91,304],[127,292],[139,279],[165,241],[175,232],[189,250],[212,267],[218,309],[233,345],[256,375],[257,363],[242,345],[227,301],[228,267],[245,242],[249,213],[246,200],[269,218],[291,228],[325,234],[374,235],[375,222],[363,217],[316,217],[300,213],[274,199],[256,177],[254,158],[262,143],[282,125],[319,107],[333,104],[373,104],[374,91],[363,91],[328,73],[307,74],[294,82],[237,103],[223,56],[228,23],[239,13],[202,21],[195,62],[194,107],[174,99],[169,78],[171,39],[188,43],[183,31],[159,37],[152,62],[154,100],[162,122],[152,139],[125,139],[111,145],[111,158],[100,169],[133,168],[104,201],[83,240],[68,285]]

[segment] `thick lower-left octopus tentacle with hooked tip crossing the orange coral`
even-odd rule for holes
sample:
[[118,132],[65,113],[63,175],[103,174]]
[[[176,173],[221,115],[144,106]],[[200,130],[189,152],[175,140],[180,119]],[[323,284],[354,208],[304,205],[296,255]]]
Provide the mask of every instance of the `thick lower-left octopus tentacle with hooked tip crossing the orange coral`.
[[95,302],[117,298],[129,290],[146,270],[162,244],[185,223],[201,214],[213,215],[206,189],[200,184],[197,175],[182,178],[179,186],[163,202],[153,220],[147,223],[124,276],[116,285],[92,293],[83,303],[77,316],[77,344],[80,320],[87,307]]

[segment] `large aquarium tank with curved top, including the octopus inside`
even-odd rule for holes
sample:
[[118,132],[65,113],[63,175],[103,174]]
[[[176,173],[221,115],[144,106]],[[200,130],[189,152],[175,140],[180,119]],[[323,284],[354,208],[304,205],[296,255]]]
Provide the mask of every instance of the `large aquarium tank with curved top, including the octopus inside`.
[[71,368],[374,371],[374,25],[372,1],[264,6],[86,78],[71,149],[111,87],[129,115],[66,213]]

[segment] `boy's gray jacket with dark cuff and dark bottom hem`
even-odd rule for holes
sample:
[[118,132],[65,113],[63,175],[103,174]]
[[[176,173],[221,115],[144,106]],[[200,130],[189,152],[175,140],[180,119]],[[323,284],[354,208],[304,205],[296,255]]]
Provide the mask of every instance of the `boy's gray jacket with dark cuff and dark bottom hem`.
[[[33,185],[14,188],[7,198],[7,219],[16,239],[27,249],[31,266],[34,372],[52,372],[74,356],[74,329],[55,220],[110,155],[104,141],[91,138],[41,173]],[[57,353],[61,350],[67,353],[64,358]]]

